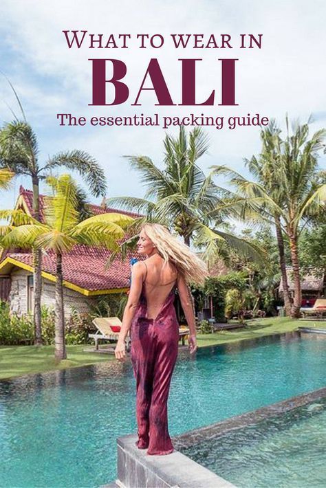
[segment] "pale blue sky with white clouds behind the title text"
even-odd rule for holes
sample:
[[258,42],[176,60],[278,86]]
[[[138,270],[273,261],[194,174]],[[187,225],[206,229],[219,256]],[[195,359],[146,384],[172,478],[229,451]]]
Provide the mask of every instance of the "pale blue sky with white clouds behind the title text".
[[[14,85],[28,122],[39,141],[39,162],[71,149],[91,154],[105,168],[107,197],[144,196],[138,173],[129,168],[124,155],[146,155],[162,167],[163,140],[178,128],[59,126],[57,113],[85,116],[153,115],[243,116],[256,113],[276,118],[284,126],[285,114],[315,122],[311,131],[326,126],[325,14],[322,0],[166,0],[137,3],[120,0],[2,0],[0,20],[0,71]],[[87,30],[89,34],[131,34],[128,49],[68,49],[63,30]],[[230,34],[232,49],[175,49],[171,34]],[[136,34],[161,34],[160,49],[139,49]],[[261,49],[239,49],[240,34],[263,34]],[[92,77],[89,58],[116,58],[127,65],[124,81],[129,86],[127,102],[118,106],[91,107]],[[196,100],[206,100],[215,89],[213,107],[157,107],[153,91],[144,91],[140,107],[131,104],[140,89],[149,60],[157,58],[166,85],[176,104],[181,102],[181,63],[178,58],[202,58],[197,65]],[[236,107],[221,107],[219,58],[238,58]],[[150,86],[150,80],[148,80]],[[0,76],[0,123],[20,116],[6,78]],[[259,153],[259,127],[218,131],[206,127],[209,151],[199,166],[208,173],[214,164],[227,164],[248,175],[243,158]],[[325,156],[320,157],[325,167]],[[80,177],[76,179],[81,182]],[[223,183],[217,181],[217,183]],[[12,208],[19,186],[31,188],[26,177],[17,177],[8,192],[0,194],[0,208]],[[41,188],[43,190],[44,188]],[[100,199],[91,197],[91,201]]]

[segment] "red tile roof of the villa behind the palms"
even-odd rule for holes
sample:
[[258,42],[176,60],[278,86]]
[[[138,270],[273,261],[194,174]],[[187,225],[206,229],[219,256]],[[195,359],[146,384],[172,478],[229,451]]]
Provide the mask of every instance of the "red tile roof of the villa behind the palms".
[[[28,210],[32,214],[32,191],[25,190],[21,186],[20,195],[23,197]],[[95,214],[102,214],[107,212],[118,212],[130,215],[131,217],[139,217],[138,214],[132,212],[123,212],[112,208],[104,209],[101,206],[91,205],[91,210]],[[44,198],[40,195],[40,212],[43,217]],[[110,256],[110,251],[105,248],[89,247],[86,245],[76,245],[72,251],[63,255],[63,279],[80,288],[89,291],[100,291],[105,289],[120,289],[129,287],[130,278],[130,264],[129,259],[135,257],[140,259],[138,253],[133,253],[124,260],[123,263],[119,259],[113,261],[109,269],[105,270],[105,264]],[[4,258],[5,256],[3,256]],[[30,252],[8,252],[6,257],[13,258],[25,265],[32,266],[32,253]],[[43,254],[42,270],[46,273],[55,275],[56,272],[56,256],[54,252],[47,252]]]

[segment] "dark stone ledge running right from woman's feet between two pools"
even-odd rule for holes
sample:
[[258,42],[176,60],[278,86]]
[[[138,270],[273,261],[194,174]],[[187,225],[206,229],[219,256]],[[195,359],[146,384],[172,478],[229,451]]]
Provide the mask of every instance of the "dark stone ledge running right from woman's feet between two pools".
[[226,432],[230,430],[241,429],[247,425],[253,425],[263,419],[281,415],[284,412],[296,407],[304,406],[311,401],[323,397],[326,397],[326,388],[319,388],[318,390],[298,395],[297,397],[272,403],[272,405],[267,407],[258,408],[257,410],[252,410],[251,412],[246,412],[211,425],[206,425],[206,427],[190,430],[184,434],[175,436],[173,437],[173,445],[175,449],[182,450],[182,448],[190,447],[191,445],[201,443],[202,441],[207,441],[210,438],[226,434]]

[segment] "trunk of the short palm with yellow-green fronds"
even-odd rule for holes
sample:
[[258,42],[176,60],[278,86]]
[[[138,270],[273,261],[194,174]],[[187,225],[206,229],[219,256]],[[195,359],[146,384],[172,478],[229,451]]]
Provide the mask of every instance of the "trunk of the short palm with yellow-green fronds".
[[56,322],[55,322],[55,351],[57,361],[67,359],[65,348],[65,311],[63,308],[63,265],[62,254],[56,254]]

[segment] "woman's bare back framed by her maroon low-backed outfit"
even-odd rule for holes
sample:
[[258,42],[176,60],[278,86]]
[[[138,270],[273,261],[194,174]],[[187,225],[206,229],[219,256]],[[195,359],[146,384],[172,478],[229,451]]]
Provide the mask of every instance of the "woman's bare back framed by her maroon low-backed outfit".
[[146,267],[143,293],[147,304],[147,318],[155,319],[177,282],[177,269],[171,263],[164,266],[164,259],[158,255],[142,263]]

